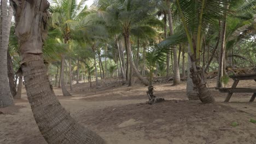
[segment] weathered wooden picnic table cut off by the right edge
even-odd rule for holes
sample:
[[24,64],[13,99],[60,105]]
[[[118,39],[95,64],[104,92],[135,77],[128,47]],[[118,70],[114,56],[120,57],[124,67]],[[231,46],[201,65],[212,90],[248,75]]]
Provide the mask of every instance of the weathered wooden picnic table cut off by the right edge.
[[234,80],[231,88],[217,87],[221,93],[228,93],[224,102],[229,102],[233,93],[253,93],[250,101],[254,101],[256,97],[256,88],[237,88],[237,84],[241,80],[254,80],[256,82],[256,74],[243,74],[230,76]]

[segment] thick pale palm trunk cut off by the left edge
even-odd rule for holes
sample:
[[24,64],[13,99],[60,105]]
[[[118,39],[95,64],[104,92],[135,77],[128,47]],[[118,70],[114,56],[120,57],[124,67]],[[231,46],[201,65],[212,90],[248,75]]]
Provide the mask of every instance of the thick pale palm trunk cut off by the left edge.
[[7,6],[7,0],[2,0],[0,21],[0,107],[13,105],[13,99],[8,82],[7,51],[10,35],[13,9]]

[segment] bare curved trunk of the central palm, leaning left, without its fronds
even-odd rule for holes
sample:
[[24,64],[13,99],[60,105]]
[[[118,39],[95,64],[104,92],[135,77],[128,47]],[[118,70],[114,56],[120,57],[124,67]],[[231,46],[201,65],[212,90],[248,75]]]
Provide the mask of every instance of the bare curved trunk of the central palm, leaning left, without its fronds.
[[130,34],[129,33],[125,34],[125,41],[126,41],[126,44],[127,44],[127,57],[129,57],[129,62],[130,62],[130,65],[131,65],[131,68],[132,68],[133,72],[135,73],[135,75],[138,77],[138,79],[141,80],[141,82],[145,86],[148,86],[149,81],[144,79],[141,76],[141,74],[139,74],[139,71],[136,68],[135,63],[133,62],[132,52],[131,52],[131,41],[130,41]]

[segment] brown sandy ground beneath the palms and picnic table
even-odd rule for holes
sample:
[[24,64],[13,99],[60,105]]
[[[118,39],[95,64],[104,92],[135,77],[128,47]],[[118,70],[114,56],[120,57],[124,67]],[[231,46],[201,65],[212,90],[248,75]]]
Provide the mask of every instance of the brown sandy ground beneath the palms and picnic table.
[[[73,97],[63,97],[60,88],[54,91],[72,117],[108,143],[256,143],[256,124],[249,122],[256,119],[256,102],[248,102],[251,93],[236,93],[230,103],[223,103],[226,93],[216,91],[216,80],[210,80],[208,86],[217,103],[205,105],[188,101],[185,82],[175,87],[158,83],[154,94],[166,101],[147,105],[147,87],[121,86],[116,79],[101,84],[100,89],[90,88],[89,83],[74,85]],[[227,87],[231,85],[232,81]],[[241,81],[237,87],[256,87],[256,82]],[[25,89],[15,106],[0,111],[1,144],[46,143],[34,122]]]

